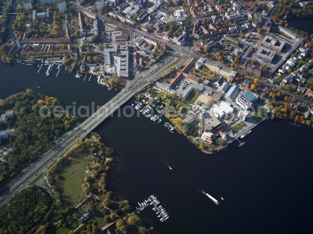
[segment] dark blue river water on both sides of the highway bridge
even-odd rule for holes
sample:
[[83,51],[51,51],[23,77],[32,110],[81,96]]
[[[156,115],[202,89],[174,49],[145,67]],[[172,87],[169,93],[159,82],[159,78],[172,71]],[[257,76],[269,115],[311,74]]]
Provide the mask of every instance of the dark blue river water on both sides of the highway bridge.
[[[54,66],[47,77],[46,68],[38,75],[36,66],[0,61],[0,98],[32,88],[64,105],[73,101],[102,105],[118,92],[108,92],[95,78],[90,82],[75,79],[64,67],[55,77]],[[115,151],[107,188],[134,206],[155,194],[170,213],[164,223],[150,208],[140,213],[146,226],[154,228],[151,233],[311,233],[309,127],[266,120],[244,139],[243,146],[234,142],[213,155],[142,116],[111,117],[95,132]]]

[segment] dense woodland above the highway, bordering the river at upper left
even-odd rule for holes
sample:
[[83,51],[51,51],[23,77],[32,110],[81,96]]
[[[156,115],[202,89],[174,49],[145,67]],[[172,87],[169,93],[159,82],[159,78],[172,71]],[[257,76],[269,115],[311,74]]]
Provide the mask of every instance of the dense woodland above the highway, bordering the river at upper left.
[[4,155],[6,162],[0,163],[0,185],[52,148],[54,140],[72,128],[77,118],[69,113],[59,112],[49,117],[41,115],[41,111],[47,114],[49,107],[52,110],[56,105],[60,105],[58,99],[36,94],[31,89],[0,102],[0,110],[15,112],[17,123],[13,126],[13,120],[8,121],[9,127],[14,128],[8,139],[12,149]]

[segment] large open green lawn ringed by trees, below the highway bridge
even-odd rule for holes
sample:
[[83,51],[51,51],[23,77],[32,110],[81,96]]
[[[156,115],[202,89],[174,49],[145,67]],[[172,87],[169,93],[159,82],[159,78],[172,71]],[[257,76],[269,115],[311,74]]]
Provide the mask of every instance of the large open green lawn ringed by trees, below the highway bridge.
[[61,175],[62,179],[56,181],[55,185],[60,188],[62,197],[69,206],[76,206],[82,195],[81,185],[86,176],[86,163],[86,154],[78,153],[75,157],[66,160],[56,172],[56,175]]

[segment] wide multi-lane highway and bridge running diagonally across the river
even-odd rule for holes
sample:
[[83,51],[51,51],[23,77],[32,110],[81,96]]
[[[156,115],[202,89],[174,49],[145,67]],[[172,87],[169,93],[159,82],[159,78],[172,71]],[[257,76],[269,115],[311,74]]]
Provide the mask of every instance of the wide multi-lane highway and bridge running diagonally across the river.
[[[39,174],[44,173],[46,168],[49,168],[57,158],[62,156],[76,143],[77,139],[83,139],[104,119],[109,117],[121,105],[125,104],[136,92],[148,85],[151,80],[156,79],[156,76],[154,75],[155,70],[162,69],[167,65],[168,63],[164,63],[162,66],[157,63],[154,66],[151,66],[148,71],[140,72],[133,80],[127,83],[119,94],[117,94],[105,105],[101,106],[99,110],[93,113],[82,124],[70,131],[64,139],[60,140],[47,153],[21,171],[11,181],[3,185],[0,188],[0,207],[7,204],[12,199],[14,194],[23,189],[24,187],[22,187],[22,185],[27,186],[31,181],[37,178]],[[169,68],[167,70],[169,70]]]

